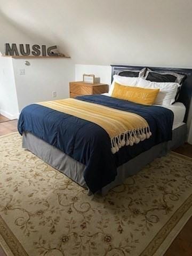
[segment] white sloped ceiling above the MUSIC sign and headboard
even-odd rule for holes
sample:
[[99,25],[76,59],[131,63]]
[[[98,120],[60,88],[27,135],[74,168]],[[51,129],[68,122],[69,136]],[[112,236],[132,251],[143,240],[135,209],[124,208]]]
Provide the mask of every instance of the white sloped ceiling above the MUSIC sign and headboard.
[[191,0],[1,0],[4,43],[60,46],[75,63],[192,67]]

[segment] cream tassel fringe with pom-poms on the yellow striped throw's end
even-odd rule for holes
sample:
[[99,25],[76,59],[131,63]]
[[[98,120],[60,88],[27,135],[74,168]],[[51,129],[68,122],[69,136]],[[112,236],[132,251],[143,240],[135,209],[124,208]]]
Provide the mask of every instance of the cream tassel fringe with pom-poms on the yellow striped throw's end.
[[126,131],[111,138],[111,152],[115,154],[121,147],[133,146],[134,143],[138,144],[140,141],[149,139],[151,135],[149,126]]

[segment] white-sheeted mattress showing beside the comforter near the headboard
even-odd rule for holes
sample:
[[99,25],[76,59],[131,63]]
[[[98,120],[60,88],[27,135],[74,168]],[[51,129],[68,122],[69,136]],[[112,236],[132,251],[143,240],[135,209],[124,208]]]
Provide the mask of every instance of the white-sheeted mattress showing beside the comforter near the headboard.
[[[109,93],[103,93],[103,95],[110,97]],[[160,106],[160,105],[155,105],[155,106]],[[183,119],[185,117],[186,107],[183,105],[183,103],[175,102],[170,106],[161,106],[161,107],[168,108],[173,112],[174,114],[173,127],[172,127],[173,130],[184,124]]]

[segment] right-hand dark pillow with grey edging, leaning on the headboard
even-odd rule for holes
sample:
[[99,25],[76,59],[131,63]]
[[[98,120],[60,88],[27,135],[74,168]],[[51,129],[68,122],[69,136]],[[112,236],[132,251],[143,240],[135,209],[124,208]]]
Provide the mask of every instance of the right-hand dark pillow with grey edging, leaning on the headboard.
[[145,74],[145,79],[151,82],[175,82],[179,83],[180,85],[182,84],[185,78],[186,75],[177,74],[174,72],[157,72],[152,71],[149,68],[147,69]]

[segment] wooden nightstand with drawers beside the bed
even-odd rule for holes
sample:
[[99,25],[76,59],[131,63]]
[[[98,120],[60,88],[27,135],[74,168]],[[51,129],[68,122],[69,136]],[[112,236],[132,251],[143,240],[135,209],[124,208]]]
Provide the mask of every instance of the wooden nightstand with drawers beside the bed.
[[80,95],[101,94],[108,92],[108,84],[89,84],[85,82],[69,83],[70,98]]

